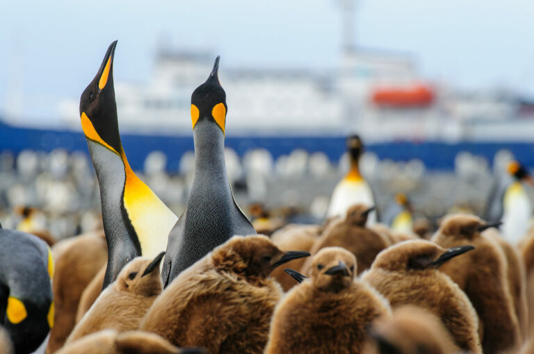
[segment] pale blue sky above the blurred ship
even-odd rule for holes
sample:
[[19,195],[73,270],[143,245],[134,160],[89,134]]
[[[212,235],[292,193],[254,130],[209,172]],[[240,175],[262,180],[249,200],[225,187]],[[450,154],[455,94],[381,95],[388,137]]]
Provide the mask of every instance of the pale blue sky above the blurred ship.
[[[115,81],[147,81],[162,40],[228,67],[334,69],[341,0],[0,1],[0,115],[53,119],[108,44]],[[534,1],[358,0],[359,47],[410,54],[426,81],[534,93]]]

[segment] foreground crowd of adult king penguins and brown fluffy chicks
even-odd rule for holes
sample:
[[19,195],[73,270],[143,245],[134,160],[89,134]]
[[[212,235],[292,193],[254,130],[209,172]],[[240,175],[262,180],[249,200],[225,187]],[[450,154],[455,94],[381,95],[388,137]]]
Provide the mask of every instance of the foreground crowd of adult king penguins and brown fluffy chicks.
[[191,96],[195,176],[178,218],[124,153],[116,45],[80,100],[104,235],[50,249],[0,227],[0,353],[531,353],[526,167],[510,163],[486,220],[449,214],[432,235],[405,194],[379,218],[353,135],[324,224],[256,235],[227,177],[217,57]]

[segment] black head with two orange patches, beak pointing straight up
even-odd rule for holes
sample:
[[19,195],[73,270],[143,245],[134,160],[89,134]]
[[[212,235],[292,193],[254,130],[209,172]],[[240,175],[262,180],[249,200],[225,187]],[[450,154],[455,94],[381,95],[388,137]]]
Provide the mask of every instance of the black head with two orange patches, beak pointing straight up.
[[220,57],[218,56],[207,81],[197,87],[191,95],[191,122],[193,124],[193,130],[195,130],[198,122],[206,120],[216,123],[220,130],[223,130],[223,134],[225,133],[228,107],[226,106],[225,90],[223,90],[223,87],[219,83],[219,59]]

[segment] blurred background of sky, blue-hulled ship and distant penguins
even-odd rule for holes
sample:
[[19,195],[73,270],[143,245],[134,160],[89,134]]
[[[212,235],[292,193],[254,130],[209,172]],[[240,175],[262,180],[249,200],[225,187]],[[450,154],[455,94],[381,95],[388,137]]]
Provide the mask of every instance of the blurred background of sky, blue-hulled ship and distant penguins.
[[353,133],[382,210],[403,192],[429,219],[480,213],[508,161],[534,165],[533,15],[527,0],[1,1],[0,219],[100,227],[78,106],[113,40],[124,150],[177,214],[191,93],[217,55],[249,215],[323,219]]

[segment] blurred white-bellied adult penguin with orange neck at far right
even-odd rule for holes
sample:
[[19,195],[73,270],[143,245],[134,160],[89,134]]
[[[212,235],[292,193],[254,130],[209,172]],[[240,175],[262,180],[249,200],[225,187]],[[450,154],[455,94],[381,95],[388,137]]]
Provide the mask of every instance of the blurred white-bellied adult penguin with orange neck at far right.
[[526,234],[532,214],[531,200],[523,183],[534,186],[534,180],[517,161],[508,164],[507,172],[489,196],[485,219],[502,221],[503,237],[515,245]]

